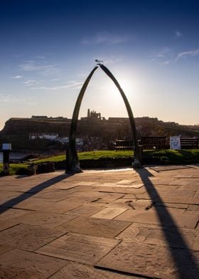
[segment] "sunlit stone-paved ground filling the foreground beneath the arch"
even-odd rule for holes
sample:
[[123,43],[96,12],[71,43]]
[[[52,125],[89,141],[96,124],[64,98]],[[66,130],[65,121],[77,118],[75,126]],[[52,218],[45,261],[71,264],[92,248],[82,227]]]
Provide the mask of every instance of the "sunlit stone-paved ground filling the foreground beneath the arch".
[[199,167],[0,178],[0,278],[199,278]]

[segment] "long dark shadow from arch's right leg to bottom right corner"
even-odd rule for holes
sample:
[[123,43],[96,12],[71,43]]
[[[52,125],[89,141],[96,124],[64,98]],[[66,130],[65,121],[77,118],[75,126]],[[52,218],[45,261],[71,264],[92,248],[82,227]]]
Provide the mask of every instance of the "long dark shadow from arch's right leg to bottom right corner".
[[[178,270],[177,278],[199,278],[199,267],[197,260],[193,255],[192,251],[190,251],[188,243],[186,243],[185,239],[183,238],[181,231],[177,227],[176,222],[173,220],[171,214],[168,212],[168,209],[166,209],[166,206],[164,206],[163,200],[161,199],[161,196],[158,194],[158,191],[156,190],[154,184],[151,182],[150,177],[153,177],[153,175],[147,169],[136,169],[136,172],[141,177],[146,187],[146,190],[149,196],[151,197],[151,201],[154,203],[158,201],[162,205],[154,206],[154,208],[156,209],[158,219],[161,221],[163,234],[168,243],[168,248],[173,258],[173,262],[176,264],[176,268]],[[172,246],[171,243],[173,242],[173,235],[168,229],[168,224],[172,227],[173,234],[176,236],[176,239],[178,239],[178,247],[181,248],[176,248]]]

